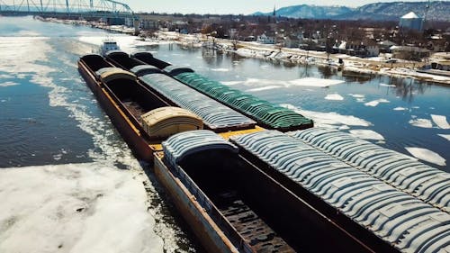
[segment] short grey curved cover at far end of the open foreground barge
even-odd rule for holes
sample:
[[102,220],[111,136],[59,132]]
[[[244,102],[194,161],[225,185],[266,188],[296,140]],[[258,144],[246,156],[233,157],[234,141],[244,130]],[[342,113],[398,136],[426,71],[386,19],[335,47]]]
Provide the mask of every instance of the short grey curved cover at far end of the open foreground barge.
[[172,166],[185,156],[211,149],[227,149],[238,153],[238,148],[213,131],[184,131],[162,142],[166,161]]

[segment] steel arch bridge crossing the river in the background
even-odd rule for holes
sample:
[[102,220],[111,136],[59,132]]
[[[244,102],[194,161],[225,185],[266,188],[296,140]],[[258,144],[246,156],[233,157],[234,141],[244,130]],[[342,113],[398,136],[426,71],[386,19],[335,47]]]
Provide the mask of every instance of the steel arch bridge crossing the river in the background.
[[113,0],[0,0],[0,15],[137,20],[130,6]]

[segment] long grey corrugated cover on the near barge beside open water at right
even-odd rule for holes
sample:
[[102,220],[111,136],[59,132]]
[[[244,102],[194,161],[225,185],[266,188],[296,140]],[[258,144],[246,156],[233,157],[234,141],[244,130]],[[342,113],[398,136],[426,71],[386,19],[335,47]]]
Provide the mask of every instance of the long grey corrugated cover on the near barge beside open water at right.
[[450,212],[450,175],[349,133],[313,128],[289,133],[371,176]]

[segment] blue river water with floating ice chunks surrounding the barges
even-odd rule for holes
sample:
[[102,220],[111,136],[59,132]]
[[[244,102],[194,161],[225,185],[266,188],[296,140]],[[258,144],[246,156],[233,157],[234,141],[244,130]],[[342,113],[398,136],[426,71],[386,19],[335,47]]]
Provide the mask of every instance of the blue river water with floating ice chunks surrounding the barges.
[[[113,36],[123,50],[149,50],[157,58],[299,110],[317,125],[351,132],[450,172],[449,86],[167,43],[147,45],[128,35],[31,17],[0,17],[0,167],[96,162],[139,169],[76,69],[76,60],[96,50],[106,36]],[[149,181],[156,186],[150,187],[148,208],[166,251],[197,250],[163,191]]]

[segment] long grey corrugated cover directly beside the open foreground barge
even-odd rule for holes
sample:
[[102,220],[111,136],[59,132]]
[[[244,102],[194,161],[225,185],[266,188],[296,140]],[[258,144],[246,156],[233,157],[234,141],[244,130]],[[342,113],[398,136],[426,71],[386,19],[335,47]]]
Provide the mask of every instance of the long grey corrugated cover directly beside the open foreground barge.
[[437,252],[450,241],[448,213],[302,140],[280,131],[230,140],[401,251]]

